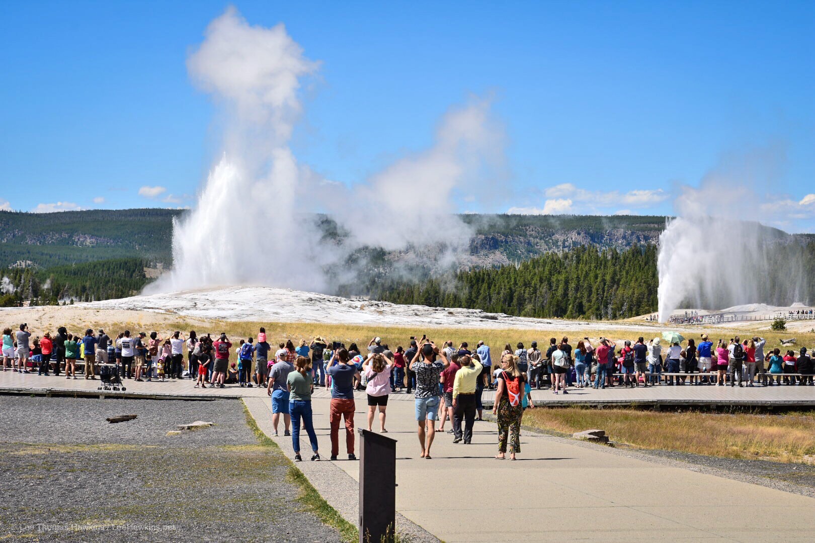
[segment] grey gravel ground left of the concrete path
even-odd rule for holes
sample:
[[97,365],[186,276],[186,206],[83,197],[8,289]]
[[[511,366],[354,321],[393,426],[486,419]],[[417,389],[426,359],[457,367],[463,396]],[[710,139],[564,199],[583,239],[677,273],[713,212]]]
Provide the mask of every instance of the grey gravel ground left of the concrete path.
[[[0,396],[0,414],[2,541],[341,541],[240,401]],[[195,420],[216,425],[165,436]]]

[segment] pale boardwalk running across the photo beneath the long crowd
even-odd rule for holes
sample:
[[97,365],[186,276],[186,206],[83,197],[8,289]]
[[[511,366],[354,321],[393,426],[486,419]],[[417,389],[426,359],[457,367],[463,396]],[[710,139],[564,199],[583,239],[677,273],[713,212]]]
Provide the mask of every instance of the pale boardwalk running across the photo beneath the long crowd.
[[[134,382],[124,379],[126,392],[98,390],[100,381],[65,379],[63,375],[18,374],[12,371],[0,371],[0,393],[43,394],[49,396],[130,396],[156,399],[214,400],[221,398],[267,397],[265,388],[240,388],[238,385],[227,385],[226,388],[193,388],[191,379],[168,379],[165,382]],[[315,389],[315,398],[330,396],[325,388]],[[364,392],[357,392],[361,399]],[[494,391],[485,391],[482,400],[491,405]],[[390,396],[392,401],[412,401],[413,395],[397,392]],[[780,385],[772,387],[756,386],[751,388],[716,387],[711,385],[659,385],[649,388],[614,387],[605,390],[593,388],[571,388],[569,394],[553,394],[548,390],[532,391],[535,405],[642,405],[642,406],[728,406],[740,407],[812,407],[815,408],[815,387],[799,385]]]

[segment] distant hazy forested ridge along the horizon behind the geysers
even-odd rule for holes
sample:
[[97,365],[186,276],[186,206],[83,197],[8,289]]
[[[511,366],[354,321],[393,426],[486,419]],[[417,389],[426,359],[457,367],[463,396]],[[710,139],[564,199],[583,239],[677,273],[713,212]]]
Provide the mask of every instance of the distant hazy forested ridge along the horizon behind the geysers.
[[[96,209],[53,213],[0,211],[0,268],[51,267],[139,257],[172,265],[173,217],[178,209]],[[461,215],[472,226],[462,268],[525,261],[550,251],[591,245],[624,250],[656,243],[665,217],[622,215]],[[319,221],[330,229],[327,217]],[[781,230],[773,230],[786,236]]]

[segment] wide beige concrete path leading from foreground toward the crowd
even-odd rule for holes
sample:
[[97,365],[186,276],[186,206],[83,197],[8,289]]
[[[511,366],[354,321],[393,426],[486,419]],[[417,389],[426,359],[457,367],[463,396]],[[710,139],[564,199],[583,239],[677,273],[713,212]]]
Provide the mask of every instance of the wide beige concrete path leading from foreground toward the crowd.
[[[271,418],[268,401],[255,398],[247,404],[259,421]],[[366,424],[363,409],[360,397],[358,427]],[[488,422],[476,423],[470,445],[453,444],[452,436],[438,434],[433,459],[425,460],[419,458],[412,402],[392,401],[388,409],[388,436],[399,440],[397,510],[447,543],[815,540],[811,497],[528,432],[522,432],[517,462],[498,461],[492,458],[496,426]],[[320,453],[328,458],[328,399],[315,398],[314,410]],[[291,453],[291,438],[282,434],[281,423],[281,437],[275,440]],[[306,436],[301,446],[309,449]],[[321,493],[328,493],[329,503],[345,508],[353,519],[356,485],[337,491],[343,485],[325,475],[324,464],[330,463],[348,480],[358,480],[359,463],[342,458],[341,434],[341,461],[299,466]]]

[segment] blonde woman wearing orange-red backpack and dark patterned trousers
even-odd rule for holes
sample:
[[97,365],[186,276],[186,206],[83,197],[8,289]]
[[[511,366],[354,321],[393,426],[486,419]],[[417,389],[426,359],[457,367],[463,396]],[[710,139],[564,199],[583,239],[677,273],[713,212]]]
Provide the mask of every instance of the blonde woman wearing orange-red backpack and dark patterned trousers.
[[521,452],[521,417],[523,415],[522,396],[526,379],[518,370],[518,357],[504,354],[501,357],[501,369],[498,374],[496,401],[492,414],[498,415],[498,454],[496,459],[504,460],[509,439],[509,459],[515,459],[515,453]]

